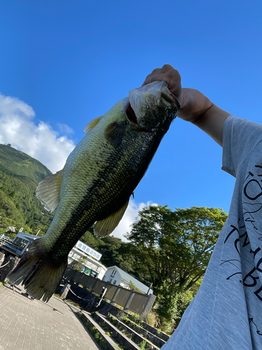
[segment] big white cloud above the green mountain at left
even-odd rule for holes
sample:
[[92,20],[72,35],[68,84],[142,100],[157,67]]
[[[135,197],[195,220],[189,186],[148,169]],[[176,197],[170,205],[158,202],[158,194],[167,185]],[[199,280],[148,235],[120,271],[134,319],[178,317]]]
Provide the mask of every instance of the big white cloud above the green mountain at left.
[[[11,144],[39,160],[51,172],[58,172],[75,144],[67,136],[59,136],[47,123],[36,124],[34,117],[31,106],[16,97],[0,94],[0,144]],[[59,125],[59,130],[64,134],[73,132],[65,124]]]

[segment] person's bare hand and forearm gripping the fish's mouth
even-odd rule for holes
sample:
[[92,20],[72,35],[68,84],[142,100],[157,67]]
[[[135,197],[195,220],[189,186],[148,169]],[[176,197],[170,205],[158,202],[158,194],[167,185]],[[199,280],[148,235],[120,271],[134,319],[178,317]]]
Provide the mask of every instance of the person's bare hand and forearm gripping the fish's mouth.
[[223,146],[223,125],[230,113],[219,109],[198,90],[182,88],[180,73],[169,64],[154,69],[143,85],[156,80],[165,80],[169,90],[177,97],[181,104],[180,111],[177,113],[179,118],[200,127],[220,146]]

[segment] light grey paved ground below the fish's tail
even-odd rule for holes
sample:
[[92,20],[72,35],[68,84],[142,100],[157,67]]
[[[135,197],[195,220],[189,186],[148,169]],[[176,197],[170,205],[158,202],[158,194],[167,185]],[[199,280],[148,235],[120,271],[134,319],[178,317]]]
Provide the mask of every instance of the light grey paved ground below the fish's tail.
[[0,350],[101,350],[73,311],[57,297],[47,304],[0,287]]

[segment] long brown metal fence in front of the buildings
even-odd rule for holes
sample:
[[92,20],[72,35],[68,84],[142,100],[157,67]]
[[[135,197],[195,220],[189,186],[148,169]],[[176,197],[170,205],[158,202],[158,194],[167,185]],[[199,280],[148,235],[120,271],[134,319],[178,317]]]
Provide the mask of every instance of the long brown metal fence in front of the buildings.
[[64,277],[78,285],[87,288],[92,293],[100,295],[103,287],[107,288],[104,298],[124,307],[124,310],[131,310],[136,314],[145,316],[148,314],[154,304],[156,296],[139,293],[136,290],[129,290],[120,286],[115,286],[109,282],[100,281],[92,276],[87,276],[83,272],[67,268]]

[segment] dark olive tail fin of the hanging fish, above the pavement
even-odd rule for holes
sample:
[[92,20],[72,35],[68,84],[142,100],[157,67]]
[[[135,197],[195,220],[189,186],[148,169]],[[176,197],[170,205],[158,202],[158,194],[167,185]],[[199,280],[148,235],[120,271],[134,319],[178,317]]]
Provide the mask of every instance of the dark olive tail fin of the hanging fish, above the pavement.
[[10,283],[24,285],[27,293],[35,299],[48,302],[59,286],[67,267],[67,257],[54,261],[43,248],[43,238],[37,239],[20,259],[17,267],[8,276]]

